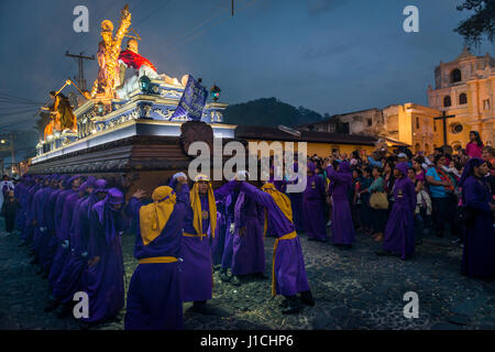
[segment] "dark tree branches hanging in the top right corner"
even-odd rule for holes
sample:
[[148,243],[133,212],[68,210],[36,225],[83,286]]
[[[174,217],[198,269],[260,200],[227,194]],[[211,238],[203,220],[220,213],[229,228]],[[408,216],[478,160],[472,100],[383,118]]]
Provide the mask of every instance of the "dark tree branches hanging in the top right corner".
[[464,37],[465,44],[480,46],[483,35],[493,43],[495,31],[495,1],[494,0],[465,0],[458,6],[458,11],[474,11],[466,20],[459,23],[454,32]]

